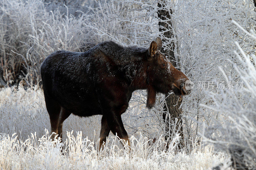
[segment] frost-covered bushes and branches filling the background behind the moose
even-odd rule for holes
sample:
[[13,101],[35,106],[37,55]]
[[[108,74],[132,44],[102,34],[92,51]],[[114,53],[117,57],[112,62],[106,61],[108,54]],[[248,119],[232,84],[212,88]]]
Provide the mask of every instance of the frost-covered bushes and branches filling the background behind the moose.
[[[86,51],[106,40],[147,47],[160,36],[165,50],[172,50],[171,44],[175,44],[177,66],[196,87],[202,82],[206,83],[206,88],[194,88],[189,96],[183,97],[181,109],[185,150],[189,151],[200,134],[215,144],[216,149],[227,151],[231,159],[236,159],[241,166],[255,167],[255,135],[252,134],[256,129],[253,100],[256,7],[253,1],[164,1],[164,10],[172,18],[161,20],[166,23],[161,32],[157,11],[162,8],[158,3],[153,0],[2,0],[0,83],[3,85],[7,82],[6,86],[21,83],[26,88],[37,89],[41,87],[40,65],[55,50]],[[172,26],[169,25],[170,21]],[[172,38],[164,36],[168,30],[174,33]],[[228,81],[244,82],[243,89],[218,89],[220,81],[225,84]],[[213,88],[207,88],[209,82]],[[149,111],[145,109],[145,94],[145,91],[133,94],[123,119],[130,135],[142,132],[144,136],[154,139],[165,133],[162,121],[165,101],[164,96],[159,94],[156,107]],[[19,107],[10,111],[4,104],[17,99],[2,95],[1,109],[9,111],[0,113],[0,116],[3,117],[3,113],[12,115],[26,112],[18,112]],[[38,104],[38,107],[42,105]],[[45,114],[46,110],[41,112]],[[5,126],[2,122],[2,130],[12,134],[18,132],[21,125],[16,125],[15,130]],[[174,136],[172,134],[170,137]]]

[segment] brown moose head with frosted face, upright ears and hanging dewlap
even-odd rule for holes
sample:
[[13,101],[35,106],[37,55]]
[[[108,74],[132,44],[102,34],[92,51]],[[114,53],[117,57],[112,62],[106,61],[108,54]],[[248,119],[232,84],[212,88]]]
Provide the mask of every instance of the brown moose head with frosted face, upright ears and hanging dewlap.
[[[185,74],[177,70],[170,60],[160,52],[162,48],[162,40],[158,37],[156,41],[152,41],[147,53],[148,59],[148,102],[147,106],[151,108],[155,100],[155,92],[167,94],[173,91],[175,95],[188,95],[190,89],[186,89],[185,83],[188,79]],[[152,97],[152,101],[150,101]]]

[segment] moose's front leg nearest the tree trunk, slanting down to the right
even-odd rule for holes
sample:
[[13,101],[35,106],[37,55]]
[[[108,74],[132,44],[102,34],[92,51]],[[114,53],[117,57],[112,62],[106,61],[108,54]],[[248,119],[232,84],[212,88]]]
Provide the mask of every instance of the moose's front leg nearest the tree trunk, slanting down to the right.
[[108,112],[108,114],[104,115],[107,119],[108,126],[111,132],[120,138],[124,139],[125,142],[128,142],[130,148],[130,140],[126,130],[124,129],[124,124],[121,118],[121,114],[116,114],[114,112]]

